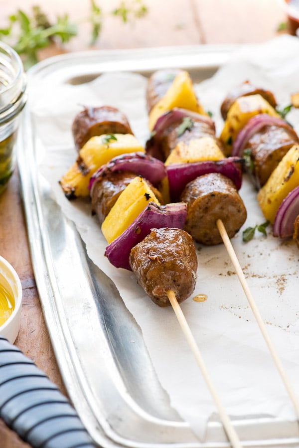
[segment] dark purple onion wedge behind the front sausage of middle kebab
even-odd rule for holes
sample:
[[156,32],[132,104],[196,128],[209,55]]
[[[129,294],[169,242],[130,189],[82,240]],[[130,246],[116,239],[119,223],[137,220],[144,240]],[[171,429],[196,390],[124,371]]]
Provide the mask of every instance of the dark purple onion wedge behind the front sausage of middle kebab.
[[229,177],[239,190],[242,185],[241,161],[240,157],[227,157],[217,161],[205,160],[168,165],[166,169],[171,200],[178,200],[183,189],[191,180],[210,172],[219,172]]

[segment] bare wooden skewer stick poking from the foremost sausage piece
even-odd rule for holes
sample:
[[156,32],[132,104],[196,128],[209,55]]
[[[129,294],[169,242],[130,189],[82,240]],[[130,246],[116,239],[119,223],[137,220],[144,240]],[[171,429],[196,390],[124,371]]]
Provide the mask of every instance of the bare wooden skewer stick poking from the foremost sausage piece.
[[236,433],[235,428],[232,425],[232,422],[231,422],[228,414],[226,413],[226,410],[225,410],[223,404],[220,401],[218,393],[217,393],[217,391],[215,389],[215,386],[214,386],[214,384],[212,382],[212,379],[211,379],[211,377],[209,375],[208,369],[207,369],[207,367],[205,365],[205,362],[204,362],[204,360],[203,360],[203,358],[201,356],[201,353],[199,351],[198,345],[196,344],[196,341],[195,341],[195,339],[193,337],[191,329],[190,329],[190,327],[189,327],[189,325],[188,325],[188,323],[186,321],[186,318],[185,318],[185,316],[184,316],[184,314],[183,314],[183,312],[181,310],[181,307],[180,307],[180,305],[179,305],[179,303],[178,303],[178,301],[177,301],[177,299],[175,297],[174,292],[171,291],[171,290],[168,291],[167,292],[167,296],[168,296],[168,299],[169,299],[169,301],[170,301],[170,303],[172,305],[172,308],[173,308],[173,310],[175,312],[177,320],[178,320],[178,322],[179,322],[179,324],[181,326],[181,329],[183,330],[183,333],[185,334],[186,339],[187,339],[187,341],[188,341],[188,343],[190,345],[190,348],[191,348],[191,350],[192,350],[192,352],[193,352],[193,354],[195,356],[197,364],[200,367],[202,376],[203,376],[203,378],[204,378],[204,380],[205,380],[205,382],[206,382],[206,384],[207,384],[207,386],[208,386],[208,388],[210,390],[210,393],[211,393],[211,395],[212,395],[212,397],[213,397],[213,399],[215,401],[215,404],[216,404],[216,406],[218,408],[218,412],[219,412],[220,418],[222,420],[223,427],[224,427],[224,430],[226,432],[226,435],[227,435],[230,443],[232,444],[233,448],[242,448],[240,439],[239,439],[239,437],[238,437],[238,435]]

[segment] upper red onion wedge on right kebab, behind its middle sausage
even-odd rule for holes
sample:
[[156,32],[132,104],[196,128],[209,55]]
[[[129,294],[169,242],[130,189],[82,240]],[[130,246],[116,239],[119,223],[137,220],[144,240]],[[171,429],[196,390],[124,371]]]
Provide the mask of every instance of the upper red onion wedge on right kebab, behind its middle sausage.
[[268,114],[259,114],[252,117],[239,132],[232,149],[232,155],[242,157],[247,142],[264,126],[280,126],[294,132],[293,128],[283,119],[271,117]]

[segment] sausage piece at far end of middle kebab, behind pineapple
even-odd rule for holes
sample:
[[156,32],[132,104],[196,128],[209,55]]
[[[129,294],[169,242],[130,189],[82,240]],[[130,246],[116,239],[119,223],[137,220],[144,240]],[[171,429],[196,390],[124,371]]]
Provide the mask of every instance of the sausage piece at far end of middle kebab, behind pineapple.
[[182,71],[180,69],[157,70],[150,76],[146,92],[148,112],[165,95],[174,78]]

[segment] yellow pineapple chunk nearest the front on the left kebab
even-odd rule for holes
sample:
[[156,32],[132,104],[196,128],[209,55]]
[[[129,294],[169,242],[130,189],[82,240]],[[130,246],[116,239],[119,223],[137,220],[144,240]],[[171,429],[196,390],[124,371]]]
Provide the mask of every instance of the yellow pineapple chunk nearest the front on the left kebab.
[[147,181],[143,177],[135,177],[122,191],[102,224],[103,235],[109,244],[132,224],[149,202],[160,205]]

